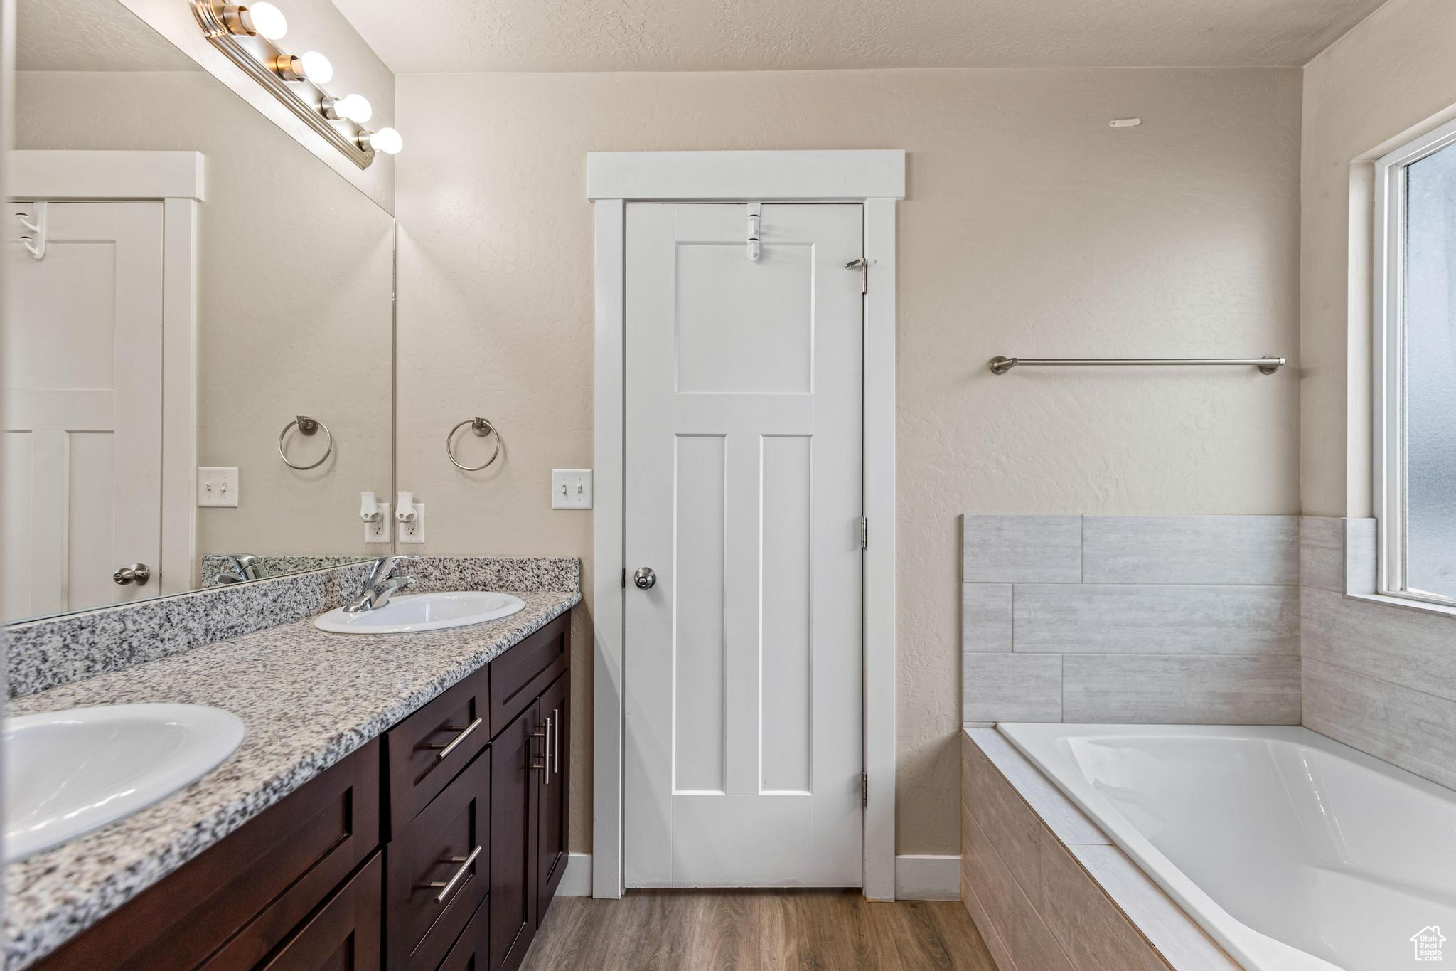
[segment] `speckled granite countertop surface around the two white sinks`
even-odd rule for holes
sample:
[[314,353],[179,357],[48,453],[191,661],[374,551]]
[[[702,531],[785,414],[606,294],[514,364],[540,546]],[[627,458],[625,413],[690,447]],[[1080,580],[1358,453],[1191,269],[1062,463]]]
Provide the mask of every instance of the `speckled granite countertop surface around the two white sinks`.
[[581,601],[579,592],[517,595],[524,610],[469,627],[348,635],[297,620],[10,702],[7,715],[213,705],[242,718],[248,734],[162,802],[7,865],[6,971],[50,954]]

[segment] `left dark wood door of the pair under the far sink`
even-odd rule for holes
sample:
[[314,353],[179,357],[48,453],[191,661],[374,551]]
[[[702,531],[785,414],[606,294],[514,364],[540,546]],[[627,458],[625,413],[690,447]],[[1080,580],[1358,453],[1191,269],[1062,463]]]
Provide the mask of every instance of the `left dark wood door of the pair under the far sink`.
[[536,933],[536,790],[545,722],[529,705],[491,742],[491,968],[514,971]]

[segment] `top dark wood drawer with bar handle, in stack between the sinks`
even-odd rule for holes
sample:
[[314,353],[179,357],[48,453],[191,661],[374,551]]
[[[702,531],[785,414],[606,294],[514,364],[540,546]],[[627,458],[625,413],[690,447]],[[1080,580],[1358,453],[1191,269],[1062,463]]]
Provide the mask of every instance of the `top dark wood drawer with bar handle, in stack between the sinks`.
[[491,741],[489,683],[491,668],[483,667],[389,729],[386,839],[419,815]]

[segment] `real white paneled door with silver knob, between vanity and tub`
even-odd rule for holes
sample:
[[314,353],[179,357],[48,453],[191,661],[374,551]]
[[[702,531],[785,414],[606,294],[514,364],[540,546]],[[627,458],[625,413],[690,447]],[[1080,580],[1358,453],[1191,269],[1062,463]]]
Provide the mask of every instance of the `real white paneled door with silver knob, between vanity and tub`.
[[628,887],[863,884],[862,208],[626,207]]

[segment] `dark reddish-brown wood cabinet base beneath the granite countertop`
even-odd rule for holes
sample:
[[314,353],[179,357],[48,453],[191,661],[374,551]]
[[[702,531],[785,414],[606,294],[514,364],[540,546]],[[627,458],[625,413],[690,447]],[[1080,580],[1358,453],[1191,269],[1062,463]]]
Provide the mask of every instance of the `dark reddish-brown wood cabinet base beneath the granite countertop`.
[[518,968],[566,871],[569,657],[563,614],[38,971]]

